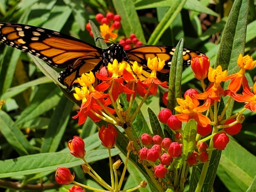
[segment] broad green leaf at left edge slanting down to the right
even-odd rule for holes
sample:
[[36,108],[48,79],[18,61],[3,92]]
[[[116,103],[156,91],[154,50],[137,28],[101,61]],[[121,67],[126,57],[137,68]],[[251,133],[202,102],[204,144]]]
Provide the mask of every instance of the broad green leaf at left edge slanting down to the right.
[[2,110],[0,110],[0,131],[19,155],[23,156],[34,153],[34,149],[27,138],[25,138],[25,135],[15,126],[11,117]]

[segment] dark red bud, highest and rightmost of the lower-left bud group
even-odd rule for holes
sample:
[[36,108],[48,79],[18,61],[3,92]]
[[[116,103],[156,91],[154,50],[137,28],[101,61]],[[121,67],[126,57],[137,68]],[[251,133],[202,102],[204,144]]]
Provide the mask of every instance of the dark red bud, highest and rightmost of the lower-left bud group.
[[108,124],[108,128],[104,125],[100,128],[99,138],[101,143],[106,148],[112,148],[116,144],[117,131],[115,127],[111,124]]

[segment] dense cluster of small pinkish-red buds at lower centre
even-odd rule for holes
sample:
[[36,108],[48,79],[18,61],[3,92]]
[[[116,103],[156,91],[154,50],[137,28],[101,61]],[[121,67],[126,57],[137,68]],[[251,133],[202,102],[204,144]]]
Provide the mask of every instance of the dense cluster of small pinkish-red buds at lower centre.
[[141,142],[145,146],[140,149],[140,159],[143,161],[155,162],[155,177],[164,178],[174,159],[181,157],[182,144],[172,142],[170,138],[162,139],[159,135],[151,137],[147,133],[141,135]]

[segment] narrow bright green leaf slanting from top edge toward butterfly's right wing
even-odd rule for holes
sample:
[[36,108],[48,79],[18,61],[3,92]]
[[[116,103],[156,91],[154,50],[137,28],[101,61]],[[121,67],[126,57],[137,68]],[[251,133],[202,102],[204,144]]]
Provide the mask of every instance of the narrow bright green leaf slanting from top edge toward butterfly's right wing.
[[170,27],[172,21],[177,17],[178,13],[182,10],[187,0],[177,0],[171,4],[170,9],[166,12],[164,18],[159,22],[154,32],[151,34],[148,43],[149,45],[157,44],[158,40],[163,35],[164,31]]

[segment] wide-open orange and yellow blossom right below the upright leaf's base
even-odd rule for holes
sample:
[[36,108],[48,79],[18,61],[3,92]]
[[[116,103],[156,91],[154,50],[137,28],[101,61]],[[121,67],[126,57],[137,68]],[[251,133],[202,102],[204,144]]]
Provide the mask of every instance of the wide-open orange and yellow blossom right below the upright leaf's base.
[[189,95],[186,95],[185,100],[178,98],[177,102],[180,106],[174,109],[180,113],[175,115],[179,121],[188,122],[189,119],[193,118],[199,125],[204,127],[211,122],[208,117],[200,114],[210,107],[210,102],[205,102],[204,105],[199,106],[199,101],[194,97],[190,98]]

